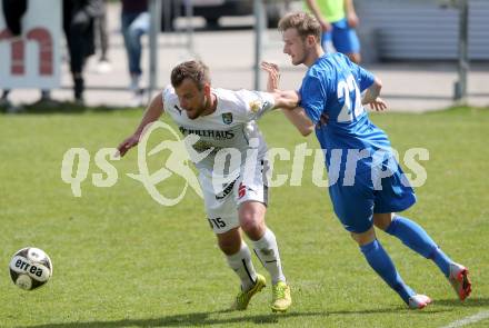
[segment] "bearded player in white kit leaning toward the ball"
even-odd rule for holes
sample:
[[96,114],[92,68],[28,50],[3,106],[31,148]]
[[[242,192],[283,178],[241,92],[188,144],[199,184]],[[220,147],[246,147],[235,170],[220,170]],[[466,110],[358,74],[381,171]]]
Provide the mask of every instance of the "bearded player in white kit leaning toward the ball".
[[[182,62],[171,72],[171,86],[152,99],[136,132],[118,147],[120,156],[123,156],[138,143],[144,127],[158,120],[163,111],[178,125],[184,137],[199,137],[189,153],[207,153],[194,163],[199,170],[206,212],[219,248],[241,280],[241,290],[233,302],[233,309],[237,310],[244,310],[251,297],[266,286],[265,277],[253,268],[251,252],[241,237],[241,230],[251,240],[256,255],[270,274],[271,309],[286,311],[292,302],[276,236],[265,223],[267,145],[256,120],[275,108],[290,110],[287,113],[290,119],[296,115],[292,109],[298,101],[295,91],[211,88],[209,69],[202,62]],[[296,119],[301,120],[302,117],[303,113],[298,113]],[[217,172],[216,168],[223,167],[226,153],[230,152],[239,155],[238,166],[234,166],[236,170],[229,169],[227,181],[223,181],[220,178],[226,172]],[[232,163],[229,166],[232,167]]]

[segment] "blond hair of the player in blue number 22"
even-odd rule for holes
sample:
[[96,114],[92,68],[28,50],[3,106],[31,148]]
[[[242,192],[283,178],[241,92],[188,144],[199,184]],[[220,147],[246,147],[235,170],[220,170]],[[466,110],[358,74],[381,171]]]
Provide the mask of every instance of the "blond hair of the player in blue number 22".
[[286,14],[279,21],[279,31],[285,32],[288,29],[296,29],[302,39],[313,36],[318,42],[321,40],[321,26],[310,13],[300,11]]

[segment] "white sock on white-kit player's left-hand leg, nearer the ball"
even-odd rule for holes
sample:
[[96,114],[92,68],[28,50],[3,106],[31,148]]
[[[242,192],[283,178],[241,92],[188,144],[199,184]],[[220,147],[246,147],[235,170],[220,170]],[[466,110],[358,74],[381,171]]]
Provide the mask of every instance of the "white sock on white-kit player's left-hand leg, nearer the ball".
[[257,281],[257,271],[255,271],[251,262],[251,252],[248,245],[241,241],[241,249],[231,256],[226,256],[229,267],[238,275],[241,280],[242,290],[248,290],[253,287]]

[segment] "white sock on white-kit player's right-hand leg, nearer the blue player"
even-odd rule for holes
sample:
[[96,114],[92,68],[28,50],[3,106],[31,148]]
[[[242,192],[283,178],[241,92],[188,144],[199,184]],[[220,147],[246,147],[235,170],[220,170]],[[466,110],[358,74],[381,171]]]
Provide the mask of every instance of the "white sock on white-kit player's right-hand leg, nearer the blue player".
[[279,281],[286,282],[282,265],[280,262],[279,247],[273,232],[267,228],[260,240],[253,241],[255,252],[263,267],[270,274],[271,281],[276,285]]

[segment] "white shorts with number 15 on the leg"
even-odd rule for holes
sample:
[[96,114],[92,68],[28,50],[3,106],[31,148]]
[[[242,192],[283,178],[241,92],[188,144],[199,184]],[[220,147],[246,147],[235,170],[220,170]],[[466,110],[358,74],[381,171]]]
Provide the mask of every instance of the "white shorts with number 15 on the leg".
[[238,208],[242,202],[252,200],[268,205],[269,169],[266,158],[259,160],[253,172],[243,173],[241,168],[239,177],[219,192],[216,192],[211,177],[199,175],[207,219],[214,233],[239,227]]

